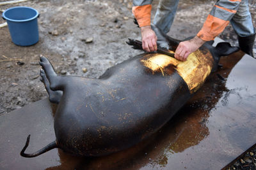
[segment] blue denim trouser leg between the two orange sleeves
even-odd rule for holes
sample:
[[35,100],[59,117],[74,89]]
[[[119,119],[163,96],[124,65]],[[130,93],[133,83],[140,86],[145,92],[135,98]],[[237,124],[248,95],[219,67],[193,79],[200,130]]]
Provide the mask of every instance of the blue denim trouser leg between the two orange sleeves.
[[179,0],[159,1],[153,23],[154,25],[159,27],[159,29],[161,29],[164,33],[170,31],[170,27],[173,23],[178,4]]

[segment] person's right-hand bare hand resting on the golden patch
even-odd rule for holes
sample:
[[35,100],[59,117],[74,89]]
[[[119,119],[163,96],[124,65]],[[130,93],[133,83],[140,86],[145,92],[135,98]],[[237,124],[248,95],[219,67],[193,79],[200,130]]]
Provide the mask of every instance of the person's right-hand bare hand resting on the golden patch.
[[195,52],[200,46],[202,46],[206,41],[195,36],[188,41],[182,41],[179,43],[179,46],[175,50],[174,57],[178,60],[187,60],[188,55],[192,52]]

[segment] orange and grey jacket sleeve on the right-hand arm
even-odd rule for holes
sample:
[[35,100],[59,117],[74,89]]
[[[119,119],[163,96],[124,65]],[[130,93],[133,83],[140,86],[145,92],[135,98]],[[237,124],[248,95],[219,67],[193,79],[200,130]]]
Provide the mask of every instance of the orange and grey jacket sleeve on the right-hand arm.
[[228,25],[243,0],[219,0],[216,2],[197,36],[205,41],[213,40]]

